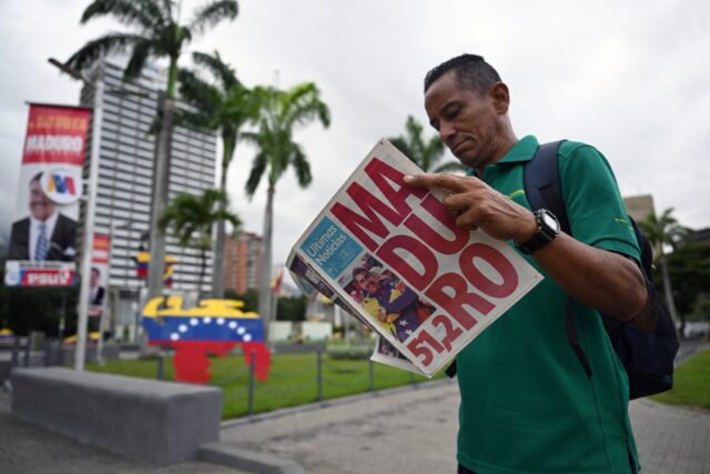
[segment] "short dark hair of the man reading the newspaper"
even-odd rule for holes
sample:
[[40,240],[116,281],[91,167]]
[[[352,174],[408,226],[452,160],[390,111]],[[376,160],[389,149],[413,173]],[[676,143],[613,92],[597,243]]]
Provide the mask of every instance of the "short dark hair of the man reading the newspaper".
[[488,64],[483,56],[462,54],[427,72],[424,78],[424,92],[428,91],[437,79],[449,71],[455,71],[456,85],[459,89],[470,90],[478,94],[488,92],[496,82],[500,82],[498,71]]

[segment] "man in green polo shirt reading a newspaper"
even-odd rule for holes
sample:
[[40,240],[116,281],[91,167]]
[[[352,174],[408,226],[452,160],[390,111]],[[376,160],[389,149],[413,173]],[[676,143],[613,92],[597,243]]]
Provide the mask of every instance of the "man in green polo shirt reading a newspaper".
[[[525,198],[523,165],[538,147],[515,135],[508,88],[481,57],[429,71],[429,122],[470,168],[468,177],[407,177],[439,188],[463,229],[509,241],[546,279],[457,356],[462,393],[459,473],[635,473],[628,381],[598,312],[629,320],[646,304],[639,250],[606,159],[592,147],[559,149],[574,236]],[[572,314],[591,376],[570,347]]]

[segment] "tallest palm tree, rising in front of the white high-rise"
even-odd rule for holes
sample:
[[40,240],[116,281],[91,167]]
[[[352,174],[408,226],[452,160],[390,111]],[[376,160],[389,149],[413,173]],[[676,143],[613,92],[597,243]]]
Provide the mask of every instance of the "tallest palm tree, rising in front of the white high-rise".
[[224,19],[234,19],[236,0],[211,0],[199,7],[187,24],[179,23],[180,6],[172,0],[93,0],[84,10],[81,23],[100,17],[113,17],[120,23],[135,28],[133,32],[111,32],[89,41],[77,51],[67,64],[84,69],[104,54],[130,51],[124,79],[135,79],[151,57],[168,58],[168,90],[161,104],[161,127],[155,145],[153,170],[153,206],[151,210],[149,297],[162,293],[162,275],[165,259],[165,236],[158,221],[168,203],[168,175],[170,144],[175,117],[175,84],[178,60],[193,36],[203,33]]

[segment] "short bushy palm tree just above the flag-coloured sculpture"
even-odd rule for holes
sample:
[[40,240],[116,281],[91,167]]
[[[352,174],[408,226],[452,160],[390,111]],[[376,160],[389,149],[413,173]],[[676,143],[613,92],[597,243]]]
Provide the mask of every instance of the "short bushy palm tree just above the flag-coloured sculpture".
[[229,198],[222,190],[209,189],[202,195],[178,194],[159,220],[160,229],[169,228],[182,246],[200,249],[200,293],[204,286],[206,253],[212,248],[212,228],[217,222],[230,221],[239,226],[239,218],[227,210]]

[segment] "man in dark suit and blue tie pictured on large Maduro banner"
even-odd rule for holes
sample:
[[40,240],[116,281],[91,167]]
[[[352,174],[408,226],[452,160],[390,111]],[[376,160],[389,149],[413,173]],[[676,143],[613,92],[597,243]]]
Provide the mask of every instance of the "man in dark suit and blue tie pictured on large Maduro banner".
[[30,216],[12,224],[8,260],[73,261],[77,222],[55,211],[41,177],[30,180]]

